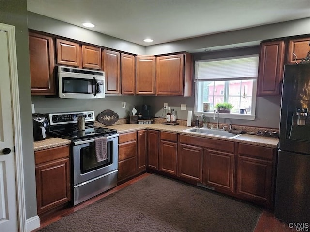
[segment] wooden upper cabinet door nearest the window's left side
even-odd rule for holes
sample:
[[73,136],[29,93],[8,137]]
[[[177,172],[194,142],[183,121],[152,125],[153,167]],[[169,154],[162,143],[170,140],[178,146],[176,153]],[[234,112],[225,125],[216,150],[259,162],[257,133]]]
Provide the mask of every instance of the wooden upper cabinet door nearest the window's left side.
[[156,57],[156,94],[183,95],[184,55]]

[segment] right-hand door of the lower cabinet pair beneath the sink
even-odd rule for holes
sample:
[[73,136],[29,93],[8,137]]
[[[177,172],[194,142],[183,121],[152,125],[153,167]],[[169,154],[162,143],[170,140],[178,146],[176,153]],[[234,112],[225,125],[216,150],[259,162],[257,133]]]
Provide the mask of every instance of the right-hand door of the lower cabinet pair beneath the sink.
[[234,154],[204,149],[202,170],[203,184],[233,192]]

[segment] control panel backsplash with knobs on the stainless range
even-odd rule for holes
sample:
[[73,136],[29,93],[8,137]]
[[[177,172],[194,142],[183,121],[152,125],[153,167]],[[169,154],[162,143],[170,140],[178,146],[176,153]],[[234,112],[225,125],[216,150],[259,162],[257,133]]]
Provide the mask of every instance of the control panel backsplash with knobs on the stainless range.
[[85,122],[94,121],[93,111],[49,113],[47,114],[50,125],[74,124],[78,122],[78,117],[84,117]]

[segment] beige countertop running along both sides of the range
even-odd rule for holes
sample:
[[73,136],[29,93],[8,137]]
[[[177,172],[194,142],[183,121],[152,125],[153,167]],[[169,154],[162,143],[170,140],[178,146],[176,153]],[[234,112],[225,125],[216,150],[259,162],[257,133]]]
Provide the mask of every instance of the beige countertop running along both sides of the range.
[[[103,125],[99,122],[95,122],[95,126],[106,127],[105,125]],[[247,144],[259,145],[259,146],[265,146],[265,147],[271,147],[271,148],[276,148],[278,146],[278,142],[279,142],[278,138],[263,137],[263,136],[248,135],[248,134],[240,135],[234,139],[226,138],[226,137],[219,137],[219,136],[214,136],[214,135],[198,134],[198,133],[184,131],[185,129],[188,129],[190,127],[181,126],[181,125],[175,125],[175,126],[163,125],[160,123],[155,123],[155,124],[120,124],[120,125],[108,126],[108,128],[116,129],[119,134],[131,132],[131,131],[143,130],[143,129],[151,129],[151,130],[175,132],[175,133],[204,137],[204,138],[209,138],[209,139],[220,139],[220,140],[226,140],[226,141],[235,141],[235,142],[239,142],[239,143],[247,143]],[[63,146],[63,145],[70,144],[70,143],[71,143],[71,141],[67,140],[67,139],[49,137],[45,140],[34,142],[34,151],[39,151],[39,150],[43,150],[43,149],[47,149],[47,148]]]

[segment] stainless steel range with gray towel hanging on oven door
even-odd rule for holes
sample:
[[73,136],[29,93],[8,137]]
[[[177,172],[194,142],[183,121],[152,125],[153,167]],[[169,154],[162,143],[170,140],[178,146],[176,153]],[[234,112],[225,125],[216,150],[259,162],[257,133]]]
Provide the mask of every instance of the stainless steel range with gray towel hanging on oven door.
[[[94,112],[47,114],[49,134],[70,139],[73,205],[117,186],[118,134],[94,126]],[[78,121],[83,119],[85,127]]]

